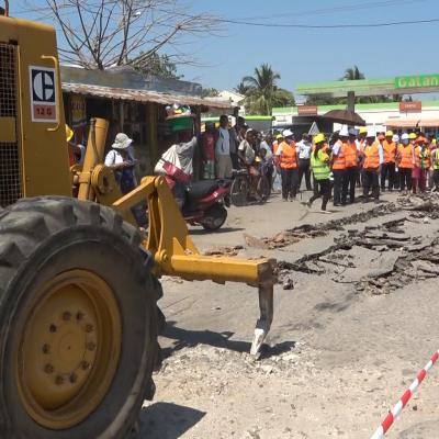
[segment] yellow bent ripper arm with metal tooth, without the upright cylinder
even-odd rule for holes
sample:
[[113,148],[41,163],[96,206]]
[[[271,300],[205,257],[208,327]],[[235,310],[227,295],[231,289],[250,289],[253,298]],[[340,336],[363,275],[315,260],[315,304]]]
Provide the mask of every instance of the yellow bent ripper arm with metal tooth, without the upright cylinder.
[[113,207],[125,216],[130,209],[148,202],[149,234],[144,243],[154,255],[156,274],[185,280],[245,282],[259,289],[260,318],[255,329],[251,353],[257,354],[273,318],[273,269],[267,259],[248,260],[200,255],[188,234],[187,224],[162,177],[145,177],[138,188],[115,201]]

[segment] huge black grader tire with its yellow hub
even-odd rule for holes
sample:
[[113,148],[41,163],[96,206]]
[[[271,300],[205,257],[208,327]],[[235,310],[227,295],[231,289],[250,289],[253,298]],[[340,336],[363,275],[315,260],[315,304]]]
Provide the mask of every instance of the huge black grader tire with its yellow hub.
[[0,438],[126,437],[158,354],[161,290],[139,241],[95,203],[0,211]]

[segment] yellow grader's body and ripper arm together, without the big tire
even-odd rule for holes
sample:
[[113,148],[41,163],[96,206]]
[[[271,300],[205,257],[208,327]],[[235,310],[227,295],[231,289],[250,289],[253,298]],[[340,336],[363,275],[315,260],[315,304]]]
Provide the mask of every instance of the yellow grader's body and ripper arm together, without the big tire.
[[56,35],[50,26],[0,16],[0,60],[1,206],[21,196],[75,192],[79,200],[112,206],[136,225],[131,207],[146,202],[149,230],[144,246],[155,257],[158,277],[245,282],[259,289],[261,316],[251,347],[257,353],[273,315],[271,262],[200,255],[161,177],[146,177],[122,196],[112,170],[103,166],[106,121],[91,121],[83,166],[69,169]]

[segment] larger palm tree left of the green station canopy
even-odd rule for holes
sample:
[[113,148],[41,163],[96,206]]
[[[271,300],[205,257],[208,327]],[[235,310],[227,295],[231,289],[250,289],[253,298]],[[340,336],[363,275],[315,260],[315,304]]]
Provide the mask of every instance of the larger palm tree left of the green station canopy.
[[241,83],[248,87],[245,93],[247,112],[270,115],[273,106],[294,104],[293,93],[277,86],[280,78],[268,64],[256,67],[255,76],[243,78]]

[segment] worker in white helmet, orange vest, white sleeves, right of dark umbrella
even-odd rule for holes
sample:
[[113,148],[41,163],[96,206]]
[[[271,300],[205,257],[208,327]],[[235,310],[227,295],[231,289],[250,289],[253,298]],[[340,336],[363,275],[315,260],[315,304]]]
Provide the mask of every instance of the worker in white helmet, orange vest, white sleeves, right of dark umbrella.
[[365,136],[365,146],[363,155],[363,203],[368,201],[369,191],[372,190],[372,196],[375,203],[380,200],[379,175],[384,162],[383,146],[375,139],[375,133],[370,130]]

